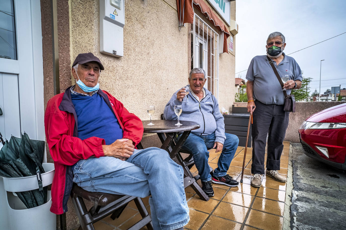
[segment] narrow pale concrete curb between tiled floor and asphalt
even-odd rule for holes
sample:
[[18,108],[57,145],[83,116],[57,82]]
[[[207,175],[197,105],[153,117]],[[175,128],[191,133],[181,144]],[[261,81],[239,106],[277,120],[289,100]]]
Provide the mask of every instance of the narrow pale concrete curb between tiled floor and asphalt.
[[292,168],[292,146],[290,144],[290,153],[288,160],[287,181],[286,181],[286,197],[285,209],[283,214],[283,230],[291,229],[291,199],[293,190],[293,168]]

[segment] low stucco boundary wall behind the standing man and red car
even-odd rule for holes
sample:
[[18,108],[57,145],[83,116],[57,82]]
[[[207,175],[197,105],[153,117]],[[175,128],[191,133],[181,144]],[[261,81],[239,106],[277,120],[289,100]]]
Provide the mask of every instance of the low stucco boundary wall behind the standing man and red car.
[[[328,102],[296,102],[295,112],[290,113],[290,121],[286,130],[285,141],[299,143],[298,129],[300,125],[312,114],[324,109],[345,103],[344,101],[328,101]],[[237,106],[246,107],[246,102],[235,102]]]

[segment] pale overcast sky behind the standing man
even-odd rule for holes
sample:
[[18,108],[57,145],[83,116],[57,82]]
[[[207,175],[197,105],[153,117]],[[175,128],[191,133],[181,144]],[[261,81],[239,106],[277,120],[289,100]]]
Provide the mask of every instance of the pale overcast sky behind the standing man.
[[[265,55],[268,35],[279,31],[286,38],[284,53],[292,53],[289,56],[298,62],[303,77],[313,78],[311,93],[319,91],[323,59],[321,93],[340,84],[341,89],[346,88],[345,0],[238,0],[236,22],[239,25],[235,36],[236,78],[240,72],[245,79],[251,59]],[[339,34],[342,35],[332,38]],[[332,39],[324,41],[329,38]],[[324,42],[298,51],[321,41]]]

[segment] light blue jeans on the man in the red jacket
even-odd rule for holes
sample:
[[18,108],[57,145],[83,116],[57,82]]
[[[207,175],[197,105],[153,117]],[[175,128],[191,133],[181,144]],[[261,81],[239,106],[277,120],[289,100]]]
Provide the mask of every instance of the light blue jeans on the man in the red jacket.
[[90,192],[149,198],[154,229],[172,230],[189,220],[183,168],[159,148],[135,150],[126,161],[114,157],[79,160],[73,181]]

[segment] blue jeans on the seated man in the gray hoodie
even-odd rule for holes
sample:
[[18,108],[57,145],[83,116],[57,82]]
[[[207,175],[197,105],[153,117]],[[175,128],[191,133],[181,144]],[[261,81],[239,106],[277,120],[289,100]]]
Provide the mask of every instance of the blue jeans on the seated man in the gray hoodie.
[[[218,167],[214,170],[213,175],[215,177],[222,177],[227,174],[227,170],[231,161],[234,158],[234,154],[237,150],[239,139],[236,135],[225,133],[226,140],[224,142],[224,148],[222,149]],[[180,134],[181,136],[181,134]],[[180,136],[178,136],[180,138]],[[212,148],[215,143],[215,132],[207,135],[200,136],[190,133],[182,148],[190,151],[193,154],[193,160],[195,166],[200,175],[201,181],[211,180],[210,166],[208,164],[209,152],[207,148]]]

